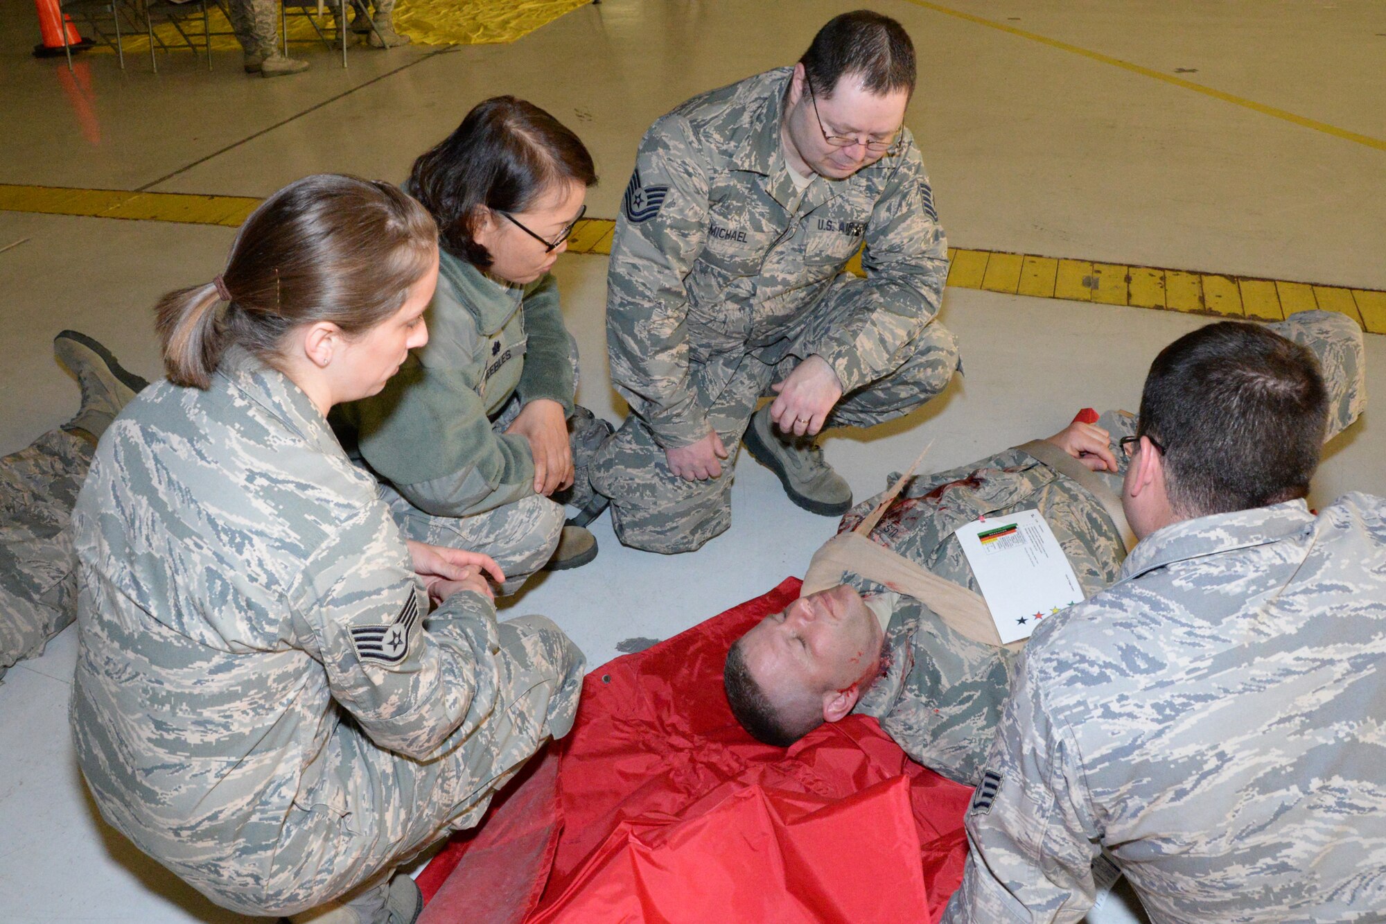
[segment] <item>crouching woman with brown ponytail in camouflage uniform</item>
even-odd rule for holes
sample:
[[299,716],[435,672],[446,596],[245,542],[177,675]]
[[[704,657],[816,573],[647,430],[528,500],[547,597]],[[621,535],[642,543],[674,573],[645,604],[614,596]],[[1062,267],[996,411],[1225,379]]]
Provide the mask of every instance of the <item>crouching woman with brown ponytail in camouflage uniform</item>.
[[496,563],[406,541],[327,426],[428,340],[437,276],[437,226],[396,187],[284,187],[222,273],[159,301],[169,379],[78,498],[82,771],[234,912],[412,920],[395,866],[572,721],[582,653],[543,617],[498,623]]

